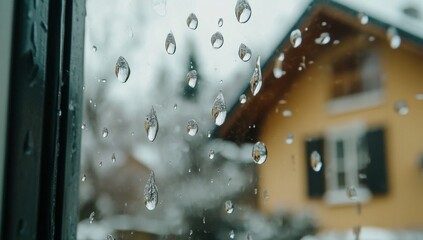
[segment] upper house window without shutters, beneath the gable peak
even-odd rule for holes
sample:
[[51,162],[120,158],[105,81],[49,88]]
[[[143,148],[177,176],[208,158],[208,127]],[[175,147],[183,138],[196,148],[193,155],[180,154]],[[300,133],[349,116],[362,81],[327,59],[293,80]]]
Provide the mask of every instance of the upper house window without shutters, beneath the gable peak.
[[330,80],[329,113],[339,114],[378,106],[383,101],[379,55],[358,50],[335,58]]

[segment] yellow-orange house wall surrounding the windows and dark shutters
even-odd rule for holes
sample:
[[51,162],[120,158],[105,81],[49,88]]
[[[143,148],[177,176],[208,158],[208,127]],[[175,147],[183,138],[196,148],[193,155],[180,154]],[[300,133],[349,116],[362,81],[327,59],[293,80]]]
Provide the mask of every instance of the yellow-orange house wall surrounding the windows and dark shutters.
[[[308,65],[288,93],[280,96],[287,103],[277,103],[266,116],[260,141],[267,145],[268,159],[258,166],[260,191],[269,194],[268,199],[259,200],[264,212],[311,211],[321,230],[351,229],[356,225],[423,227],[423,169],[418,168],[418,158],[423,154],[423,101],[416,99],[416,94],[423,92],[423,57],[401,47],[392,50],[383,39],[377,39],[373,46],[380,54],[384,71],[385,98],[378,107],[338,115],[327,113],[325,102],[331,78],[328,62],[333,59],[333,54],[327,53],[307,59],[314,60],[314,64]],[[353,49],[354,42],[342,41],[337,51]],[[399,99],[410,109],[405,116],[394,111],[394,103]],[[284,109],[291,110],[293,115],[283,117]],[[364,120],[369,126],[383,125],[386,129],[389,192],[373,196],[362,206],[361,214],[355,205],[329,206],[323,198],[309,199],[306,185],[305,164],[308,163],[304,141],[310,136],[323,135],[329,126],[353,119]],[[294,135],[291,145],[285,143],[289,133]]]

